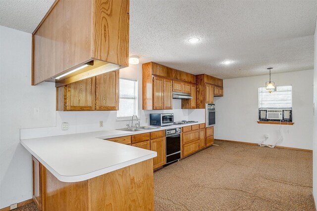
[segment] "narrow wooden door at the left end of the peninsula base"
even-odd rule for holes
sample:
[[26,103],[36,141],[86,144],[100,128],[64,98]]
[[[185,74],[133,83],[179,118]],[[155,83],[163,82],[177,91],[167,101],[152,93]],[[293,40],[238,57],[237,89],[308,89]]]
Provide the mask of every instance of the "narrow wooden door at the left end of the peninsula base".
[[33,166],[33,201],[41,210],[41,165],[40,162],[32,156]]

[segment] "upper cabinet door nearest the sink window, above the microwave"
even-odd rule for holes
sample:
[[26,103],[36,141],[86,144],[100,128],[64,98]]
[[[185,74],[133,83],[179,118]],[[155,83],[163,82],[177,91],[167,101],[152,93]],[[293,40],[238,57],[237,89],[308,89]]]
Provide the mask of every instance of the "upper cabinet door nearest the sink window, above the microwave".
[[153,78],[153,109],[164,109],[164,79]]

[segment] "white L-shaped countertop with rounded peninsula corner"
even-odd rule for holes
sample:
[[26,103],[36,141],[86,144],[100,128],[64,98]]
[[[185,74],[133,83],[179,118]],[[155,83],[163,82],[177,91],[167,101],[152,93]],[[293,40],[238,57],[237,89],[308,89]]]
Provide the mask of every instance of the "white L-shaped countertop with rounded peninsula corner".
[[157,152],[103,139],[197,125],[172,125],[136,132],[105,130],[21,140],[20,143],[62,182],[87,180],[157,156]]

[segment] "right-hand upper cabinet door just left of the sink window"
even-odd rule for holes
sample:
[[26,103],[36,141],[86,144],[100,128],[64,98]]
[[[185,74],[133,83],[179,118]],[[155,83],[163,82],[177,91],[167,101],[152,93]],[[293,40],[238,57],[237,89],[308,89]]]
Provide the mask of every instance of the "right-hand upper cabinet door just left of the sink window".
[[119,70],[96,76],[96,110],[119,109]]

